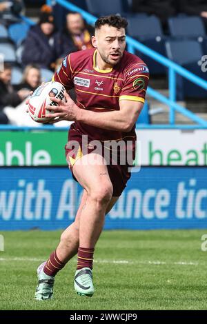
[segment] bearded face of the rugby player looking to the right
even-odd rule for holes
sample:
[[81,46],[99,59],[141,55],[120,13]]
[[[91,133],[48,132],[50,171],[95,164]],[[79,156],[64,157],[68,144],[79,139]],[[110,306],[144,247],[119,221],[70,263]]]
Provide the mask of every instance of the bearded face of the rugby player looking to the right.
[[108,65],[114,66],[121,60],[126,48],[126,32],[124,28],[117,29],[104,25],[96,30],[92,44],[97,48],[101,59]]

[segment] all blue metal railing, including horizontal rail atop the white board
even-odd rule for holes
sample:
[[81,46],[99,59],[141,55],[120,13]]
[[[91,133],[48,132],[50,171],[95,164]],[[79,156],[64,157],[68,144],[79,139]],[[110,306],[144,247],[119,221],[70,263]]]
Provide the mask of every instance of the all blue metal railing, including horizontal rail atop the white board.
[[[55,3],[59,3],[61,6],[67,8],[71,11],[77,11],[80,12],[83,18],[89,23],[90,25],[94,25],[95,21],[97,20],[96,17],[94,17],[92,14],[86,12],[85,10],[75,6],[74,4],[66,1],[66,0],[56,0],[51,1],[48,0],[48,5],[53,5]],[[27,17],[22,17],[26,23],[34,24],[33,21],[28,19]],[[207,121],[204,119],[201,119],[193,112],[190,112],[188,109],[182,107],[181,105],[176,103],[176,73],[181,75],[182,77],[185,77],[186,79],[192,81],[193,83],[196,83],[197,85],[201,86],[201,88],[204,88],[207,90],[207,82],[203,79],[197,77],[192,72],[189,72],[185,68],[182,68],[177,63],[174,63],[170,61],[169,59],[166,59],[166,57],[163,57],[161,54],[155,52],[154,50],[151,50],[146,45],[140,43],[139,41],[136,41],[135,39],[132,39],[131,37],[127,37],[126,41],[128,43],[128,51],[135,53],[135,50],[139,50],[143,52],[144,54],[148,55],[152,59],[155,59],[155,61],[165,65],[169,69],[168,74],[168,83],[169,83],[169,90],[170,95],[169,98],[165,97],[163,94],[160,94],[158,91],[153,90],[152,88],[148,87],[148,95],[158,101],[161,101],[161,103],[164,103],[169,106],[170,108],[170,114],[169,114],[169,124],[159,124],[159,125],[144,125],[139,124],[139,128],[150,128],[150,129],[204,129],[207,128]],[[178,125],[175,124],[175,112],[179,112],[183,114],[185,117],[188,117],[192,121],[195,121],[195,125]],[[41,125],[39,127],[19,127],[19,126],[13,126],[13,125],[0,125],[0,130],[67,130],[68,128],[65,127],[54,127],[49,125]]]

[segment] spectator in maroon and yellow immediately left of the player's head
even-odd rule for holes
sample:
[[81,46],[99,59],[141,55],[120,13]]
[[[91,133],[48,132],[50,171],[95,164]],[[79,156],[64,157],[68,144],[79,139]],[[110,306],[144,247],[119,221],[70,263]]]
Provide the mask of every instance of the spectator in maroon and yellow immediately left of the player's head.
[[68,48],[74,47],[74,51],[92,48],[92,28],[86,26],[83,17],[79,12],[70,12],[66,16],[66,29],[64,30],[64,54],[68,54]]

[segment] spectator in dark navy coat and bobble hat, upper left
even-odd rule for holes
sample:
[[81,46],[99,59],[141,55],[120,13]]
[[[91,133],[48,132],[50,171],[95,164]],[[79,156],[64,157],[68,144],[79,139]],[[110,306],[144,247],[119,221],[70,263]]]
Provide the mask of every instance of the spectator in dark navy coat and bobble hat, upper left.
[[41,68],[52,69],[57,58],[63,57],[63,39],[55,32],[52,9],[43,6],[39,23],[33,26],[25,40],[23,65],[37,64]]

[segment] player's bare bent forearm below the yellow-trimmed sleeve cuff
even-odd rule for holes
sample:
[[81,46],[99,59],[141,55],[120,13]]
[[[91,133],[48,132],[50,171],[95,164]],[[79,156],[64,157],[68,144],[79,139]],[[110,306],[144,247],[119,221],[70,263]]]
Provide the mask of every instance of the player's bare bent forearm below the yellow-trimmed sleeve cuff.
[[128,121],[128,118],[124,116],[124,112],[121,110],[113,112],[90,112],[81,109],[77,115],[77,121],[104,130],[129,132],[132,128],[130,121]]

